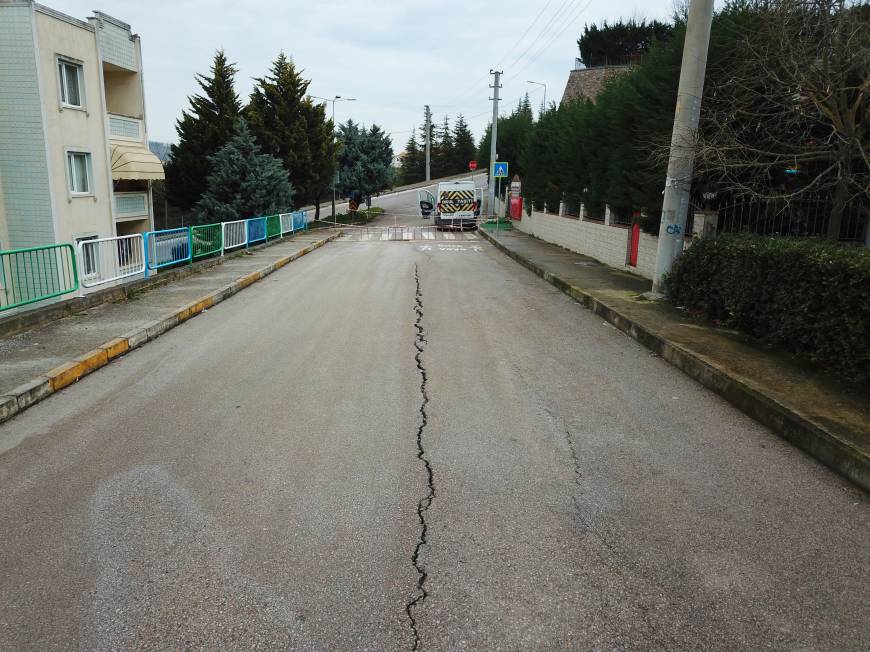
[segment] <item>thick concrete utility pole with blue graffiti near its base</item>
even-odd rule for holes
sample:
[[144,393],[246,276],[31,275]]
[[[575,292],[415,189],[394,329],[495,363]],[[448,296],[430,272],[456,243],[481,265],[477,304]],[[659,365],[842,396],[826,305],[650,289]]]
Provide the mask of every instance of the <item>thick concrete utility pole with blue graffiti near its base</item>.
[[692,0],[686,24],[686,42],[677,91],[677,110],[671,134],[668,176],[662,201],[662,224],[653,276],[653,294],[664,289],[664,277],[683,252],[689,191],[692,187],[695,142],[701,117],[701,96],[707,70],[707,49],[713,23],[713,0]]

